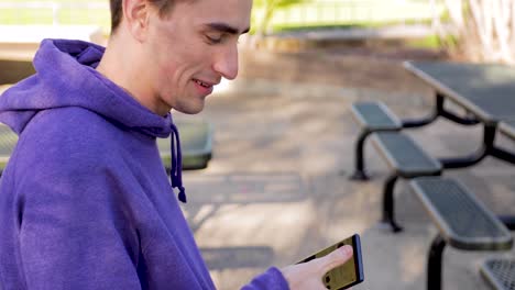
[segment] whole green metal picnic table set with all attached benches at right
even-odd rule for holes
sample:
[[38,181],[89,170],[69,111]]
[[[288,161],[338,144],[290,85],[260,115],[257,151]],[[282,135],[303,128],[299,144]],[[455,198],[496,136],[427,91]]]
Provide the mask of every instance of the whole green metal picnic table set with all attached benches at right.
[[[428,116],[409,120],[398,119],[382,102],[353,103],[352,113],[361,132],[355,143],[352,179],[368,179],[363,144],[371,135],[392,169],[383,188],[383,225],[393,232],[402,231],[395,221],[393,190],[402,177],[409,179],[415,196],[438,227],[427,261],[427,289],[438,290],[446,245],[465,250],[506,250],[513,246],[509,230],[515,230],[515,216],[496,215],[459,180],[441,175],[443,169],[473,166],[486,156],[515,164],[513,147],[506,149],[495,143],[502,134],[515,144],[515,67],[439,62],[406,62],[404,66],[435,90],[432,111]],[[402,132],[428,125],[438,118],[483,126],[479,149],[465,156],[437,159]],[[504,286],[515,285],[515,258],[491,259],[481,272],[494,289],[513,289]]]

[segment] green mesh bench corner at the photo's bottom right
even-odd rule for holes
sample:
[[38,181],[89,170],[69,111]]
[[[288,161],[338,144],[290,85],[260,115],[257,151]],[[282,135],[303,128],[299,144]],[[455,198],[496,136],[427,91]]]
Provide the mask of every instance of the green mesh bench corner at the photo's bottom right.
[[515,258],[487,259],[480,272],[495,290],[515,290]]

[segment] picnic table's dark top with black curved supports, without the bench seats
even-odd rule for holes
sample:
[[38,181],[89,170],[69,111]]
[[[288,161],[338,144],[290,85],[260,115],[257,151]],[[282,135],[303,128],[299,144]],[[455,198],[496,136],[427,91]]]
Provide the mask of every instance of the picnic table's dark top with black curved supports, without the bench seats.
[[[440,159],[443,168],[472,166],[486,156],[515,164],[515,153],[494,143],[498,133],[515,141],[515,67],[436,62],[406,62],[404,66],[436,91],[434,114],[414,120],[413,126],[443,116],[463,125],[482,124],[484,127],[481,148],[469,156]],[[447,101],[461,107],[465,116],[446,109]]]

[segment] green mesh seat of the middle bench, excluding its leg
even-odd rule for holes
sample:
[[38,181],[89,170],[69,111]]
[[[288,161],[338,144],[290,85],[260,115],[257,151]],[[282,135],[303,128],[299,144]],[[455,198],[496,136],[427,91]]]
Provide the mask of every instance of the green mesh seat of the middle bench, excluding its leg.
[[405,178],[438,175],[441,164],[426,154],[409,136],[401,132],[377,132],[372,137],[388,166]]

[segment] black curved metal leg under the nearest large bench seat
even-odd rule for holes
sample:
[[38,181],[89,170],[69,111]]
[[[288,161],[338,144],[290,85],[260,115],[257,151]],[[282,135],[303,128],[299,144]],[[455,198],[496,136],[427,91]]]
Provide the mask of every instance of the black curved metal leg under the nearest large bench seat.
[[443,248],[446,247],[446,241],[438,234],[432,239],[431,247],[429,248],[429,255],[427,259],[427,289],[428,290],[440,290],[441,289],[441,272],[443,270],[441,264],[441,257]]

